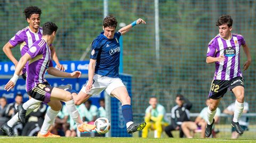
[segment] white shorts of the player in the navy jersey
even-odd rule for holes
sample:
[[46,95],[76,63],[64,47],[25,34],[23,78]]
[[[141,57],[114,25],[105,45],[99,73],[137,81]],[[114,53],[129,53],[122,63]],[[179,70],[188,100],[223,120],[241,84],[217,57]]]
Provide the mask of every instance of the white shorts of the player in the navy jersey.
[[83,86],[81,91],[89,95],[99,95],[103,90],[106,90],[107,94],[110,95],[114,89],[118,87],[125,87],[123,81],[120,78],[110,78],[95,74],[93,76],[93,80],[92,88],[90,89],[89,93],[87,93],[85,90],[88,81],[86,81],[86,84]]

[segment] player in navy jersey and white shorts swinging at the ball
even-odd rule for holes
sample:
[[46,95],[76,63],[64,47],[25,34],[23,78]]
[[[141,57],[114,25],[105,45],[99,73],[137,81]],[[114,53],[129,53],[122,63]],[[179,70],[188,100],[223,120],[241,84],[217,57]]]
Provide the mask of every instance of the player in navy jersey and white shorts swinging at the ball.
[[103,90],[116,97],[122,103],[122,113],[128,133],[142,130],[146,123],[133,123],[131,98],[119,78],[119,38],[137,24],[146,24],[142,19],[135,20],[115,32],[117,20],[114,16],[107,16],[103,20],[103,32],[92,42],[92,51],[89,63],[89,80],[74,97],[75,104],[84,103],[92,95],[98,95]]

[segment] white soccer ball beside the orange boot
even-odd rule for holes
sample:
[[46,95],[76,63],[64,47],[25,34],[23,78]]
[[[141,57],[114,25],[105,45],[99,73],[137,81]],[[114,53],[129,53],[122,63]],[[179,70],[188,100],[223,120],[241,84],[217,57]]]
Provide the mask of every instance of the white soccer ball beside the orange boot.
[[110,122],[106,117],[99,117],[95,122],[95,130],[99,134],[107,133],[110,130]]

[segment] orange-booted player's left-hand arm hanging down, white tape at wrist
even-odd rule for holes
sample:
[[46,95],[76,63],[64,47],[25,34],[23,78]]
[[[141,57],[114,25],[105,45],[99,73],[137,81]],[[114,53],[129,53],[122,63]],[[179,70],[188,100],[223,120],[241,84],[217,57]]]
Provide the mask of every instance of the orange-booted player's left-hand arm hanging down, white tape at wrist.
[[17,64],[17,67],[15,69],[13,77],[10,79],[10,81],[4,87],[5,90],[9,91],[10,89],[12,89],[15,86],[15,84],[19,78],[19,73],[24,68],[24,66],[26,65],[28,60],[31,60],[31,57],[28,53],[26,53],[25,55],[23,55],[20,58],[20,61]]

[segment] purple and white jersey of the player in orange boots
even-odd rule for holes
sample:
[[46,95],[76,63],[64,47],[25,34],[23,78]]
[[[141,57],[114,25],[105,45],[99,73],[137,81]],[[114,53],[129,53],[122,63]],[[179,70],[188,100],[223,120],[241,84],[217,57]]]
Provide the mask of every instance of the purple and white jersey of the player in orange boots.
[[53,65],[50,47],[43,38],[35,41],[27,53],[32,58],[27,64],[26,90],[29,91],[44,82],[47,69]]

